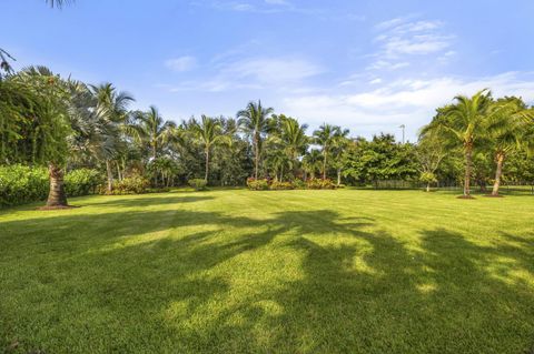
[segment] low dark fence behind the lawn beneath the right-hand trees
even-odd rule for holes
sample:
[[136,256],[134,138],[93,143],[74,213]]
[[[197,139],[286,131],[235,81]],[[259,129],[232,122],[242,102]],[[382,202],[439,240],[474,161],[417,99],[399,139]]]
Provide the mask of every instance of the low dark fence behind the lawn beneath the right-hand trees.
[[[418,190],[425,189],[426,183],[421,181],[404,181],[404,180],[377,180],[373,181],[372,185],[375,190]],[[438,183],[432,183],[432,189],[439,190],[462,190],[463,185],[456,181],[439,181]],[[491,191],[493,185],[486,185],[486,191]],[[473,191],[483,191],[479,185],[472,185]],[[534,195],[534,182],[514,182],[505,183],[501,185],[501,193],[504,194],[533,194]]]

